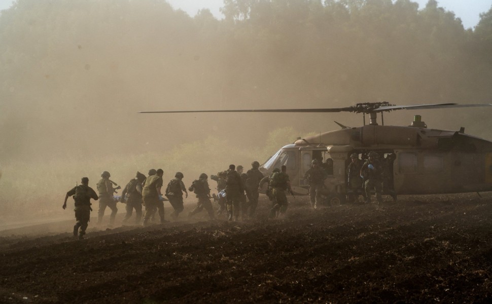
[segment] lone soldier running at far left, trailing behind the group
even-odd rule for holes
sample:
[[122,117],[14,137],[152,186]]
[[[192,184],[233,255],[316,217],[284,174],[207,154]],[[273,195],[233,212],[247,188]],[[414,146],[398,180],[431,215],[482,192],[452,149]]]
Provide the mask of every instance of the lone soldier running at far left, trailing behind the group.
[[66,193],[65,202],[62,206],[63,209],[66,209],[66,200],[70,196],[74,196],[74,211],[75,219],[77,220],[77,223],[74,226],[74,237],[77,237],[78,233],[79,240],[82,240],[84,238],[85,230],[87,229],[92,211],[90,199],[97,201],[98,197],[95,191],[89,187],[89,179],[87,177],[82,177],[82,184],[74,187],[71,191]]

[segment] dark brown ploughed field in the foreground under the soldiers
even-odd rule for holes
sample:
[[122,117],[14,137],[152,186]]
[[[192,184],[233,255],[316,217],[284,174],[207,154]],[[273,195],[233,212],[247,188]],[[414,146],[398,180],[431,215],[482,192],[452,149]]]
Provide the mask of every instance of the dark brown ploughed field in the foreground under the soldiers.
[[492,194],[306,202],[276,220],[263,197],[243,222],[90,222],[83,241],[75,220],[3,231],[0,302],[492,301]]

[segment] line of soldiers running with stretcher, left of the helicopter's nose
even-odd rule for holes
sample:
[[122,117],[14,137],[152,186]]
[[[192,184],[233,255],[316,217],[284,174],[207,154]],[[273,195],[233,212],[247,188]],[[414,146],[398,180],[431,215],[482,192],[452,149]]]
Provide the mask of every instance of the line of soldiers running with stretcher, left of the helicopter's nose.
[[[243,173],[243,167],[230,165],[226,171],[219,172],[218,175],[212,175],[212,179],[218,182],[219,190],[219,211],[227,211],[228,220],[238,220],[254,217],[259,198],[259,183],[264,177],[259,170],[260,164],[255,161],[252,168],[247,173]],[[126,214],[123,222],[127,222],[135,211],[135,224],[140,224],[143,215],[143,226],[147,226],[154,219],[156,214],[160,217],[160,222],[164,223],[164,202],[169,201],[174,211],[170,214],[171,218],[177,219],[183,212],[183,194],[188,197],[188,191],[193,192],[198,199],[197,206],[189,214],[189,217],[205,209],[210,219],[215,219],[215,212],[212,207],[212,196],[210,196],[210,187],[208,185],[208,175],[200,174],[199,178],[194,180],[190,187],[185,187],[183,183],[183,173],[177,172],[174,178],[169,181],[162,194],[164,171],[162,169],[149,170],[148,176],[137,172],[123,188],[121,197],[115,197],[116,190],[121,188],[113,182],[108,171],[101,173],[101,179],[97,182],[97,194],[89,187],[89,179],[83,177],[81,184],[75,186],[66,193],[65,201],[62,208],[66,209],[68,197],[73,196],[75,200],[75,217],[74,236],[83,239],[92,211],[90,199],[99,201],[97,212],[97,224],[102,223],[104,211],[106,208],[111,209],[110,226],[114,225],[116,214],[118,212],[117,202],[126,204]],[[288,181],[288,176],[287,176]],[[117,187],[113,187],[117,186]],[[279,187],[280,185],[278,185]],[[288,185],[290,189],[290,184]],[[284,194],[285,196],[285,194]],[[214,195],[215,197],[215,195]],[[248,200],[247,200],[248,198]],[[281,200],[280,200],[281,201]],[[143,206],[145,213],[143,214]]]

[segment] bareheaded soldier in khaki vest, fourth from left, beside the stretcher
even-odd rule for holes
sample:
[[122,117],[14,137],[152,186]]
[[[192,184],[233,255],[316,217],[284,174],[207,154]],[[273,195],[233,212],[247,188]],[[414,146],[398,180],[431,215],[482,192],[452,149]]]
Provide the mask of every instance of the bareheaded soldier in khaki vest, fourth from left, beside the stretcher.
[[[145,205],[144,227],[149,224],[150,218],[156,212],[157,205],[163,201],[161,192],[163,174],[164,171],[162,169],[157,169],[155,175],[151,175],[145,180],[144,188],[142,189]],[[161,224],[164,223],[164,208],[162,208],[162,211],[159,210],[159,216]]]

